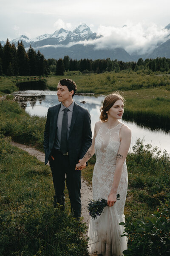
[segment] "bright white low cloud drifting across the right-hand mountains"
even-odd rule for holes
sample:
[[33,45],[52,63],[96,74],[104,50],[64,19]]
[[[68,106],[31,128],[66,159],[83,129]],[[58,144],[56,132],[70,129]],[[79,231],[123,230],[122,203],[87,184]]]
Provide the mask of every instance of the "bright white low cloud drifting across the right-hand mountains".
[[149,53],[159,44],[167,41],[170,31],[156,24],[146,27],[145,24],[136,25],[129,23],[122,28],[114,26],[99,26],[98,33],[103,35],[96,40],[95,49],[114,49],[121,47],[129,54]]

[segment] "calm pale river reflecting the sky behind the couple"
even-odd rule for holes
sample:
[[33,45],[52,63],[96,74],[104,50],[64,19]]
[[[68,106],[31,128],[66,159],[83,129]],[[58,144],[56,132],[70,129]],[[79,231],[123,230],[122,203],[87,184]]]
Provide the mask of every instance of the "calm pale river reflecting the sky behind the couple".
[[[37,116],[46,116],[49,107],[58,104],[56,91],[41,91],[41,90],[27,90],[18,91],[13,93],[15,99],[20,102],[21,106],[25,108],[26,112]],[[99,121],[102,101],[105,96],[92,96],[92,95],[75,95],[74,101],[81,105],[83,108],[88,109],[91,114],[92,131],[94,132],[94,125]],[[85,103],[81,103],[85,101]],[[126,110],[125,110],[126,111]],[[158,146],[161,151],[167,150],[170,154],[170,132],[165,133],[161,130],[152,131],[148,128],[136,125],[134,122],[127,122],[122,120],[130,127],[132,131],[131,147],[135,144],[137,138],[144,139],[144,143]]]

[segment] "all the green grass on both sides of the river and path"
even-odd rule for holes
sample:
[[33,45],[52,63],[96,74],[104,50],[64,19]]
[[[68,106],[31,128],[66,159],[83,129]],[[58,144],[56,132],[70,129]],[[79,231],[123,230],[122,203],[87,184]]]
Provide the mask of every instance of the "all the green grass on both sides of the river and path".
[[[114,89],[112,88],[113,76],[114,84],[117,86]],[[119,88],[123,86],[121,91],[126,99],[126,118],[136,119],[136,122],[140,122],[142,119],[142,122],[144,122],[145,119],[147,123],[149,119],[152,119],[152,123],[156,122],[156,125],[159,125],[159,122],[164,126],[167,123],[170,124],[169,76],[142,76],[139,74],[138,81],[135,80],[137,79],[136,74],[133,74],[133,81],[127,81],[127,84],[125,84],[128,76],[130,76],[128,73],[85,76],[72,72],[69,78],[76,81],[79,87],[78,92],[108,94],[112,93],[113,90],[120,90]],[[49,77],[47,79],[48,88],[55,89],[61,78]],[[0,78],[2,95],[4,89],[16,90],[15,81],[12,79]],[[106,81],[108,82],[106,83]],[[139,89],[138,86],[141,81],[144,86]],[[153,81],[156,86],[154,86]],[[135,82],[136,85],[132,88],[132,84]],[[104,83],[105,87],[103,87]],[[149,87],[148,84],[150,84]],[[9,99],[10,96],[7,98]],[[0,203],[2,205],[0,209],[0,255],[8,256],[13,253],[13,255],[29,256],[85,256],[87,253],[87,241],[83,238],[85,227],[77,226],[71,218],[68,195],[66,195],[67,209],[65,213],[57,211],[55,215],[51,208],[51,191],[53,190],[51,189],[49,167],[40,164],[34,157],[30,157],[28,154],[12,147],[3,137],[10,136],[13,140],[34,145],[43,151],[45,118],[29,116],[20,108],[17,102],[8,99],[0,101]],[[95,156],[89,161],[88,167],[82,170],[82,176],[89,184],[92,180],[94,163]],[[161,155],[158,149],[152,148],[151,145],[144,145],[143,141],[138,140],[136,145],[133,146],[133,151],[127,156],[127,169],[129,182],[125,205],[126,220],[131,217],[134,222],[144,218],[147,225],[149,223],[147,218],[150,214],[153,214],[156,208],[161,208],[162,203],[167,204],[165,201],[170,186],[170,158],[166,152]],[[163,207],[162,211],[165,209]],[[163,228],[160,228],[159,234],[156,233],[156,236],[153,236],[154,234],[150,232],[147,234],[148,236],[145,236],[144,233],[140,233],[142,231],[134,231],[132,234],[134,242],[133,239],[129,239],[131,243],[129,248],[137,248],[143,236],[146,237],[143,244],[149,241],[150,244],[152,242],[156,246],[160,245],[161,248],[162,237],[167,236],[164,227],[168,227],[170,220],[168,210],[164,210],[164,212],[165,224],[162,224]],[[156,218],[159,221],[159,218],[162,217],[160,215]],[[63,221],[63,219],[66,221]],[[55,226],[58,221],[61,221],[62,225]],[[137,224],[135,225],[137,227]],[[54,227],[58,230],[56,237],[54,236]],[[78,233],[77,230],[79,230]],[[128,226],[127,232],[130,232],[130,226]],[[136,240],[137,244],[135,244],[135,236],[139,236],[138,241]],[[51,240],[53,237],[55,239]],[[151,239],[152,237],[153,239]],[[154,240],[155,237],[159,239]],[[63,243],[59,246],[58,241],[60,239],[67,240],[67,246]],[[33,240],[36,241],[34,242],[35,245],[31,246]],[[164,247],[166,247],[166,244]],[[160,248],[157,249],[158,254],[154,253],[154,255],[161,255]],[[68,254],[68,250],[71,250],[72,254]],[[127,253],[125,255],[152,255],[141,254],[141,252],[139,246],[138,253]],[[164,255],[166,255],[166,252]]]

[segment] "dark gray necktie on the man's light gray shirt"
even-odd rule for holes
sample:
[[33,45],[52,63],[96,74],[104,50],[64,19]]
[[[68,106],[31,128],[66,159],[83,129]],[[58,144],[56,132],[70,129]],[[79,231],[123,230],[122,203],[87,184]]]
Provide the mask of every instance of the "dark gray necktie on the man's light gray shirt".
[[60,151],[62,152],[62,154],[65,154],[68,151],[68,147],[67,147],[67,123],[68,123],[67,111],[68,111],[68,108],[65,108],[64,114],[62,117],[61,145],[60,145]]

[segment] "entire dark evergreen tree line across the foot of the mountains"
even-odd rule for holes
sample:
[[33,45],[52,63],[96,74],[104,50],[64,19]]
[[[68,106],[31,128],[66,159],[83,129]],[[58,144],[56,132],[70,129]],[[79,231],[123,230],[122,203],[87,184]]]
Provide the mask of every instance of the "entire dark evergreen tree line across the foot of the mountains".
[[135,61],[118,61],[106,59],[72,59],[68,55],[58,60],[48,58],[46,60],[44,55],[29,47],[26,52],[23,42],[10,44],[6,41],[4,47],[0,44],[0,75],[6,76],[44,76],[50,72],[55,75],[64,75],[65,71],[80,71],[82,73],[103,73],[105,71],[115,71],[116,73],[122,70],[144,70],[148,72],[168,72],[170,73],[170,59],[156,58],[145,59],[139,58]]

